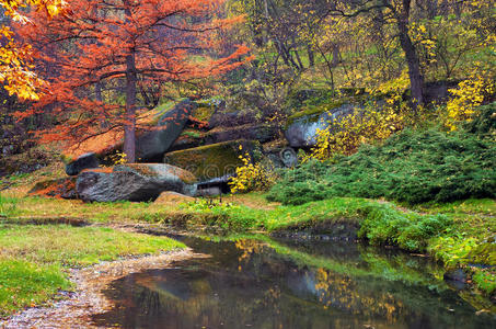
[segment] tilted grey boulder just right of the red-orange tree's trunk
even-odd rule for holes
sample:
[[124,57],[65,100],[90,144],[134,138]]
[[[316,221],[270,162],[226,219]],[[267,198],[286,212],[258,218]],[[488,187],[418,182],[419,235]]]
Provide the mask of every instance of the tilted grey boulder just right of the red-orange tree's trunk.
[[163,114],[157,126],[136,140],[136,155],[140,160],[161,159],[163,154],[180,137],[196,104],[184,100]]

